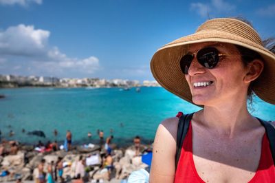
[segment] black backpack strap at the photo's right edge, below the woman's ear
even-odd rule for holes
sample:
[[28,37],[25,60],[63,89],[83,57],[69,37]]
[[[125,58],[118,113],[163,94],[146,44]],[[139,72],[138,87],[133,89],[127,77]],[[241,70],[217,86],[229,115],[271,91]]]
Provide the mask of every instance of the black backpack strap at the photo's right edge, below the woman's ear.
[[272,124],[272,122],[267,122],[265,120],[261,120],[260,118],[257,118],[263,127],[265,127],[265,132],[267,134],[267,138],[270,141],[270,150],[272,153],[273,162],[275,165],[275,127]]

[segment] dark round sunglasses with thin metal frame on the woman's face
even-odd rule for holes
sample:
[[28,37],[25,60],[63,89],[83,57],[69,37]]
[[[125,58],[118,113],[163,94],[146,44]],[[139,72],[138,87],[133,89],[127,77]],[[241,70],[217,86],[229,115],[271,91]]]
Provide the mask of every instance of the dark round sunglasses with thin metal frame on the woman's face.
[[197,55],[197,61],[203,67],[207,69],[213,69],[216,67],[217,63],[219,63],[220,56],[224,56],[225,54],[220,54],[219,50],[215,47],[205,47],[201,50],[198,50],[197,53],[186,54],[182,56],[180,60],[181,71],[184,74],[188,74],[188,69],[192,63],[192,60],[195,58],[195,54]]

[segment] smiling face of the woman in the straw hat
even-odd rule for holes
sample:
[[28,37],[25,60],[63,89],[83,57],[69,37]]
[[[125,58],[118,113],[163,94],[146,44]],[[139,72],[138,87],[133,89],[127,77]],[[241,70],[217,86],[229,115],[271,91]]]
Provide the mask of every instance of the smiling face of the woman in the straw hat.
[[[188,74],[185,74],[193,103],[214,106],[236,99],[246,101],[249,83],[245,83],[243,78],[247,69],[236,47],[228,43],[197,43],[189,46],[189,52],[194,53],[205,47],[215,47],[224,56],[219,58],[216,67],[207,69],[198,63],[197,55],[195,55]],[[199,86],[201,83],[210,85]]]

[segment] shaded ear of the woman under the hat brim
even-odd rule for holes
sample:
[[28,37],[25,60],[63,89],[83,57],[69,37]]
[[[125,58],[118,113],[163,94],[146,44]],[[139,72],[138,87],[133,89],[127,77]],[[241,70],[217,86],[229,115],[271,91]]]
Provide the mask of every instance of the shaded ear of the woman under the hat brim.
[[247,73],[243,80],[245,81],[245,83],[250,83],[253,80],[256,80],[256,78],[258,78],[263,72],[263,61],[261,61],[260,59],[255,59],[254,61],[249,63],[247,67]]

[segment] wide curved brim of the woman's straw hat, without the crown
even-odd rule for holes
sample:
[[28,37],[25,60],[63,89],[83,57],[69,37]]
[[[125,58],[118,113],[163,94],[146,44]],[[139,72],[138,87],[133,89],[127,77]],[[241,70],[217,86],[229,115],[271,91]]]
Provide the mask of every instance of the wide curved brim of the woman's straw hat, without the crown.
[[262,56],[265,66],[261,76],[255,80],[252,90],[262,100],[275,104],[275,55],[259,44],[228,32],[209,30],[197,32],[181,37],[157,50],[151,59],[151,72],[159,85],[194,104],[186,78],[181,72],[179,61],[188,52],[188,45],[205,42],[231,43],[258,52]]

